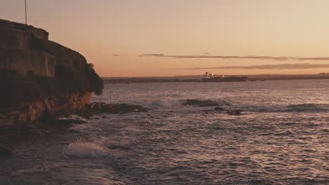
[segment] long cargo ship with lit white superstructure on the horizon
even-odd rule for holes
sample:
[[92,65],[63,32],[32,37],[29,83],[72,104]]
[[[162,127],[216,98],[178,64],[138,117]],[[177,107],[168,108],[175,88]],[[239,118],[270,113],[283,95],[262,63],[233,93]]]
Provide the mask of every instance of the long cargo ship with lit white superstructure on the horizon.
[[214,76],[211,72],[207,71],[205,74],[200,78],[200,82],[228,82],[228,81],[247,81],[247,76]]

